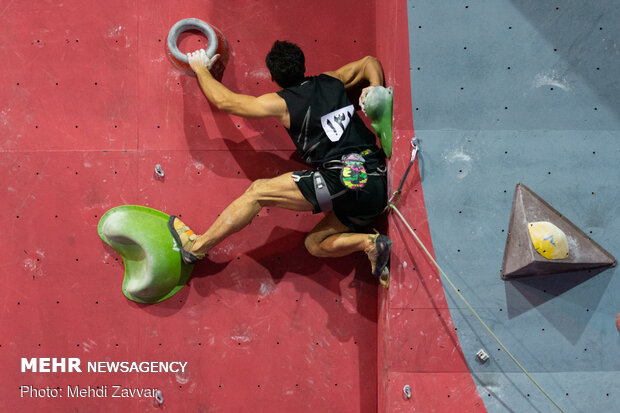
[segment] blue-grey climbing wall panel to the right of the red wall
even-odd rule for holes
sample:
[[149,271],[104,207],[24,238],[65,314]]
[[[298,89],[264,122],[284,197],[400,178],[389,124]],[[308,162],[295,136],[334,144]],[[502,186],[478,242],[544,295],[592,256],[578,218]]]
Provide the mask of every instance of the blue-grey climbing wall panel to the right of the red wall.
[[[409,0],[407,9],[439,264],[562,409],[617,411],[618,270],[506,282],[499,271],[519,182],[620,256],[620,2]],[[488,411],[557,411],[444,290]]]

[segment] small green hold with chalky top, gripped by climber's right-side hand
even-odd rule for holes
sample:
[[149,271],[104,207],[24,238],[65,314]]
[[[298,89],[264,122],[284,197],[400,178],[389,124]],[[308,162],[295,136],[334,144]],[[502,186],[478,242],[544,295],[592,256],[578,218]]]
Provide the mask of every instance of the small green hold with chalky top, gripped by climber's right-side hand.
[[392,157],[392,114],[394,90],[392,87],[375,86],[368,91],[364,100],[364,112],[370,118],[371,126],[381,141],[385,156]]

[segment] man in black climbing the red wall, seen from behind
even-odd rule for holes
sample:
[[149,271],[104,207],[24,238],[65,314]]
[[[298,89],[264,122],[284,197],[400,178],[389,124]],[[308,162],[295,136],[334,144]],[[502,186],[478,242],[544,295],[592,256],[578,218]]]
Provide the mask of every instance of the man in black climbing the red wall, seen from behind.
[[[376,145],[375,135],[355,113],[346,93],[347,88],[367,81],[370,86],[360,97],[363,105],[368,90],[383,85],[381,63],[367,56],[335,71],[306,77],[302,50],[293,43],[276,41],[265,61],[272,80],[281,89],[254,97],[234,93],[213,78],[209,69],[217,57],[209,59],[204,50],[188,54],[189,64],[209,102],[237,116],[277,119],[313,169],[254,181],[202,235],[171,216],[170,231],[182,247],[183,261],[190,264],[204,258],[226,237],[250,224],[263,207],[280,207],[324,212],[325,217],[306,237],[310,254],[341,257],[364,251],[373,275],[383,282],[392,242],[385,235],[361,231],[381,214],[387,203],[385,155]],[[347,163],[351,159],[353,163]],[[352,168],[346,169],[343,179],[347,166]],[[366,173],[359,179],[350,178],[359,166]],[[364,179],[365,184],[360,185]]]

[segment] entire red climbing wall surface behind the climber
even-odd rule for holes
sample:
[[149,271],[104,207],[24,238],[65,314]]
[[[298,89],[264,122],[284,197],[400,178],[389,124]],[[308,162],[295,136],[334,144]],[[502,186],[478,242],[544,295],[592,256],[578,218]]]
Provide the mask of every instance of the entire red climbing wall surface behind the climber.
[[[388,83],[403,88],[397,135],[406,141],[412,133],[407,60],[395,55],[406,53],[404,5],[376,7],[359,0],[0,5],[1,411],[366,412],[396,403],[389,401],[400,397],[395,378],[417,369],[420,357],[403,350],[409,348],[407,337],[415,336],[403,323],[411,318],[415,325],[423,313],[409,314],[414,304],[398,301],[411,298],[400,293],[412,288],[402,271],[385,294],[378,292],[363,255],[311,257],[303,239],[318,216],[263,210],[248,229],[214,250],[210,262],[196,266],[187,287],[156,305],[122,295],[122,260],[98,238],[96,226],[108,209],[139,204],[181,215],[204,230],[252,180],[303,168],[275,121],[217,112],[195,79],[172,66],[165,41],[176,21],[197,17],[224,33],[231,56],[223,82],[245,93],[274,90],[264,56],[275,39],[300,44],[311,74],[378,55]],[[183,36],[181,49],[202,47],[204,41]],[[402,142],[396,147],[405,152],[395,157],[402,171],[408,147]],[[156,164],[164,169],[163,179],[154,176]],[[423,207],[421,190],[417,195],[411,191],[403,202]],[[425,222],[422,211],[414,218]],[[409,242],[405,238],[397,242]],[[395,251],[398,261],[417,254],[415,247]],[[430,296],[441,297],[421,305],[443,306],[442,324],[427,325],[441,329],[444,344],[452,346],[441,353],[457,343],[444,328],[449,314],[437,285]],[[379,334],[378,319],[385,329]],[[386,341],[385,334],[396,341]],[[461,370],[440,384],[465,374],[469,391],[458,353],[448,362]],[[79,358],[83,371],[22,373],[20,360],[35,357]],[[396,358],[401,364],[392,361]],[[179,373],[95,373],[86,370],[89,361],[187,364]],[[425,375],[414,374],[411,384],[446,360],[436,362],[422,368]],[[425,383],[432,390],[435,381]],[[116,385],[157,388],[164,402],[112,397]],[[75,386],[106,389],[107,397],[69,397],[68,387]],[[63,397],[50,397],[54,389]]]

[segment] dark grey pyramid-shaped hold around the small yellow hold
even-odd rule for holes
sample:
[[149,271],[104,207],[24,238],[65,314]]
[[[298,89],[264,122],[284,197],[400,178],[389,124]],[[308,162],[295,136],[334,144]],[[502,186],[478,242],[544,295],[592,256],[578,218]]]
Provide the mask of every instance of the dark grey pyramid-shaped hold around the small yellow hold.
[[[548,221],[562,230],[568,239],[570,255],[550,260],[535,249],[528,223]],[[517,184],[510,212],[502,278],[504,280],[533,275],[558,274],[616,265],[616,259],[541,197],[523,184]]]

